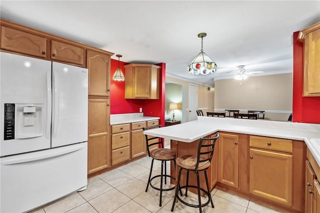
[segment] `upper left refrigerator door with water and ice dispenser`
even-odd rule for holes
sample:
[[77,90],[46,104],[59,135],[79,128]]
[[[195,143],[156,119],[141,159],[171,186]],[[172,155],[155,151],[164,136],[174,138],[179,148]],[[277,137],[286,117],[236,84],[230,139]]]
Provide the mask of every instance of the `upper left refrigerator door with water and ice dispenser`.
[[[5,52],[0,60],[1,156],[50,148],[51,62]],[[8,103],[15,104],[15,137],[4,140]]]

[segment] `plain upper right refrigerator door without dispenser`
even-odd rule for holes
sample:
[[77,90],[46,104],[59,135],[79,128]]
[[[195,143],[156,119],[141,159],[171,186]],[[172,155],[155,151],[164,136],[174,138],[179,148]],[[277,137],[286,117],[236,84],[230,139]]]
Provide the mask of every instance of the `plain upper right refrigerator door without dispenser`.
[[52,62],[51,147],[87,141],[88,70]]

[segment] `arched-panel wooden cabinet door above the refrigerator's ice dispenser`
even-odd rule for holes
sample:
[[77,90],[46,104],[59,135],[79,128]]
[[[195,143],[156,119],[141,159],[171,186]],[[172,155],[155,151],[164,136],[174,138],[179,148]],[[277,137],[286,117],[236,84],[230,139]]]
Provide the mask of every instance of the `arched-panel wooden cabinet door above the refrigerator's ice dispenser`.
[[1,49],[45,58],[46,38],[1,26]]

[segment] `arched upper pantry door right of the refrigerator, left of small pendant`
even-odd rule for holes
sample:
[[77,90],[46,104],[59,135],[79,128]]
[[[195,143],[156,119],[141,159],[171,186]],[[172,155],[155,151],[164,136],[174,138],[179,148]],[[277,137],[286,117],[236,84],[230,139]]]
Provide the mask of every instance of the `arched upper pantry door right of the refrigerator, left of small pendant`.
[[89,70],[89,95],[109,96],[110,56],[87,50],[86,66]]

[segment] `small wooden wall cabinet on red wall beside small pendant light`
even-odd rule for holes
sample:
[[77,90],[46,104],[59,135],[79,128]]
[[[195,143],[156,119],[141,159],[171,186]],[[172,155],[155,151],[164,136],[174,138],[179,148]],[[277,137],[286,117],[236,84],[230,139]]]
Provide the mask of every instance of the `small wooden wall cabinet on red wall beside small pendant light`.
[[127,64],[124,67],[125,98],[159,98],[159,66],[153,64]]

